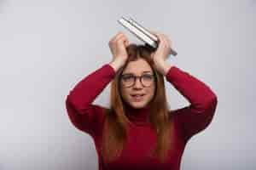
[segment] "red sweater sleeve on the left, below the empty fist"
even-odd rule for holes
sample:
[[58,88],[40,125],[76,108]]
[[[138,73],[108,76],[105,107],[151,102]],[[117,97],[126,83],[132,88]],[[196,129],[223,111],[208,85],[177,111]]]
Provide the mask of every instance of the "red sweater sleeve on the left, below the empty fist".
[[100,69],[84,77],[67,94],[66,108],[69,119],[75,127],[93,137],[102,126],[105,112],[102,106],[92,105],[92,102],[114,76],[115,71],[112,66],[102,65]]

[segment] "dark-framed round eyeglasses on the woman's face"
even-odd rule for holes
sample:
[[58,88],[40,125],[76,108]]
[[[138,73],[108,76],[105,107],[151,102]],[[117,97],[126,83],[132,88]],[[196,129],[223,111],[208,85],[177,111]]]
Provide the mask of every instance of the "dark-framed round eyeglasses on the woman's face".
[[124,74],[120,77],[120,82],[125,88],[130,88],[134,86],[137,78],[140,79],[140,82],[143,84],[143,87],[145,88],[150,87],[155,80],[155,76],[153,74],[144,74],[140,77],[136,77],[132,74]]

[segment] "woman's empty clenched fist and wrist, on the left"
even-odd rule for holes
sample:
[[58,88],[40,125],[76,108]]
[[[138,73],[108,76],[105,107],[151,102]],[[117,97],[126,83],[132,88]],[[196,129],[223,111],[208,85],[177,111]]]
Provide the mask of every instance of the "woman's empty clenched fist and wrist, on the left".
[[128,38],[123,32],[119,32],[108,42],[108,45],[113,54],[110,65],[113,66],[115,71],[118,71],[120,67],[125,65],[125,61],[128,59],[126,51],[126,47],[129,45]]

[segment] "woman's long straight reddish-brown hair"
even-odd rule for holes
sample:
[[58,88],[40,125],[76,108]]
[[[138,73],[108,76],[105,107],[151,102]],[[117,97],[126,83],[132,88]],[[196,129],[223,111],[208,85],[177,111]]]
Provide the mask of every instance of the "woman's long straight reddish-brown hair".
[[157,156],[160,161],[164,161],[168,150],[171,149],[172,132],[172,114],[166,101],[164,77],[154,69],[153,60],[149,57],[153,52],[150,48],[132,43],[126,50],[128,59],[111,82],[110,109],[106,111],[106,122],[104,122],[102,133],[102,157],[105,161],[113,161],[120,156],[124,147],[128,132],[128,118],[125,116],[123,101],[119,94],[119,77],[130,61],[142,58],[148,62],[156,76],[154,99],[149,105],[149,121],[157,135],[157,143],[152,156]]

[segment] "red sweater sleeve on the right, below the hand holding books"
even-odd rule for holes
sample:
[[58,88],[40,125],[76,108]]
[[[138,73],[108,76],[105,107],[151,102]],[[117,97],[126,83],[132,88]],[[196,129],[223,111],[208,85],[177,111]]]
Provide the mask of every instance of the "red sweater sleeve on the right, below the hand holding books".
[[172,66],[167,72],[166,80],[189,100],[189,106],[172,112],[184,139],[188,140],[212,121],[218,103],[217,96],[204,82],[176,66]]

